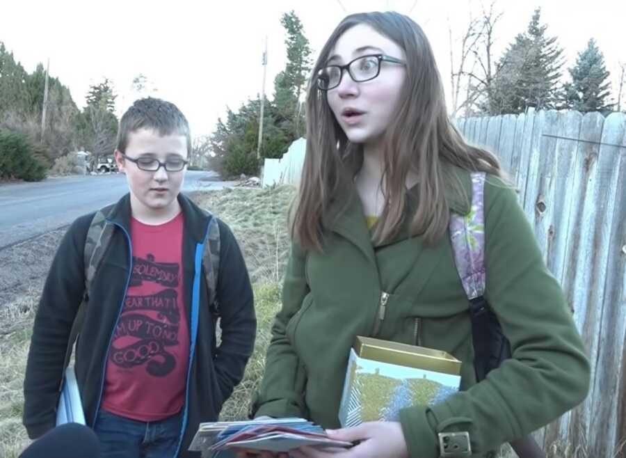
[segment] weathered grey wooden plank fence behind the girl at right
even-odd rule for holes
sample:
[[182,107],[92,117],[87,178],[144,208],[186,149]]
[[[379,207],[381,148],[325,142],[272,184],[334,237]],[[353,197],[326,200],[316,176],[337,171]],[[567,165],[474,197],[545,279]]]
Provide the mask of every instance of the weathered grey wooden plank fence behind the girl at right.
[[626,458],[626,114],[459,118],[520,189],[591,358],[586,401],[537,432],[549,457]]

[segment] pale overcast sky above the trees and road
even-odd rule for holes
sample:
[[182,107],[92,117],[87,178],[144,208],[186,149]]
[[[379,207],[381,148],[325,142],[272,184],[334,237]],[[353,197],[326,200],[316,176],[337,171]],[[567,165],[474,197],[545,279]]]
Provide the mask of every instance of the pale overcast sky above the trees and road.
[[[483,3],[488,4],[489,0]],[[145,74],[155,95],[179,106],[193,134],[209,134],[225,107],[236,109],[262,86],[261,57],[268,36],[266,93],[273,94],[275,74],[284,68],[282,13],[291,9],[302,20],[314,56],[348,13],[397,10],[420,24],[435,50],[444,87],[449,90],[447,19],[455,34],[467,26],[479,0],[6,0],[0,9],[0,41],[32,72],[50,58],[50,74],[68,86],[79,107],[90,84],[111,79],[122,113],[134,97],[131,81]],[[497,0],[504,12],[496,35],[498,58],[533,10],[542,8],[548,34],[565,48],[566,67],[589,38],[604,53],[607,70],[617,78],[626,61],[626,1]],[[456,49],[455,49],[456,51]]]

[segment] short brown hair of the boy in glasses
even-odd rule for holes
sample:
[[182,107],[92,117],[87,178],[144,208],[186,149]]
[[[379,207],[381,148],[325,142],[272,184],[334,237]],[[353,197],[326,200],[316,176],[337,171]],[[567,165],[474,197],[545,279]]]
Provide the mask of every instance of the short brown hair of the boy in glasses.
[[128,137],[139,129],[154,129],[159,135],[184,135],[187,155],[191,155],[191,131],[182,111],[175,104],[154,97],[139,99],[120,120],[117,149],[126,152]]

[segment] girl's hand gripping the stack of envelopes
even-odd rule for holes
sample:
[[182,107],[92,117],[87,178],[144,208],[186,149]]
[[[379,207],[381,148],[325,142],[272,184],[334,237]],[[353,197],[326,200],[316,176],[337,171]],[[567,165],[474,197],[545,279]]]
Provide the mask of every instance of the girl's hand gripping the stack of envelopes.
[[330,439],[356,442],[353,448],[332,451],[323,448],[303,447],[291,450],[294,458],[408,458],[408,450],[402,427],[398,422],[376,421],[363,423],[357,427],[328,429]]

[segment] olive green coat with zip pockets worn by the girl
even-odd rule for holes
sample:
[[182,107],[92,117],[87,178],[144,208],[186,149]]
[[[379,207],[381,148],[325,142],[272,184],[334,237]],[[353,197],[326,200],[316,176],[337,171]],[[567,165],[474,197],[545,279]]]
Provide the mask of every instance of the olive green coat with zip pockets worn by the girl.
[[[470,175],[455,174],[470,196]],[[467,197],[451,189],[446,197],[451,211],[469,212]],[[417,198],[408,191],[409,215]],[[488,177],[484,198],[485,298],[511,342],[513,358],[476,384],[467,297],[449,237],[427,246],[422,237],[408,237],[405,223],[393,240],[373,246],[353,192],[331,207],[323,253],[292,244],[255,415],[303,416],[339,427],[348,352],[356,335],[419,343],[463,362],[458,393],[440,404],[401,411],[411,457],[439,457],[437,433],[460,431],[469,432],[472,456],[480,457],[584,400],[588,359],[515,191]],[[390,297],[381,321],[383,292]]]

